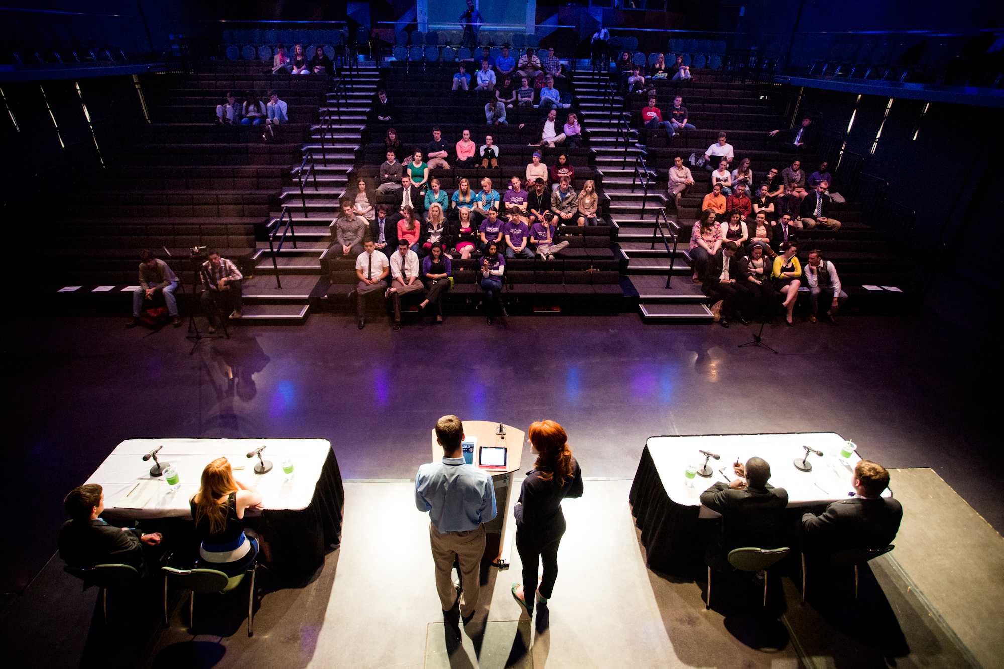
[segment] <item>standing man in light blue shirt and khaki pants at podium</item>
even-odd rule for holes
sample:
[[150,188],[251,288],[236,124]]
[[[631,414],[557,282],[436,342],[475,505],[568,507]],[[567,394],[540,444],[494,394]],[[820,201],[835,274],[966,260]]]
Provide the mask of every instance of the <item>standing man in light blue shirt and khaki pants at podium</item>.
[[[464,461],[464,424],[460,418],[449,415],[436,421],[436,441],[443,447],[443,460],[419,467],[415,505],[429,512],[429,540],[443,611],[452,611],[460,604],[461,616],[467,622],[478,610],[481,558],[485,552],[483,523],[497,514],[495,486],[488,472]],[[455,560],[460,562],[463,601],[451,575]]]

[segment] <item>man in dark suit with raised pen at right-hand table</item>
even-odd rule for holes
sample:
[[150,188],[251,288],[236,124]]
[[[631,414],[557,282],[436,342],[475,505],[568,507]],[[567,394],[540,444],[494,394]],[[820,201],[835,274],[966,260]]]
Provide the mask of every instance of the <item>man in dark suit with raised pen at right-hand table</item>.
[[[718,545],[711,546],[709,562],[724,567],[729,550],[740,546],[776,548],[788,493],[775,488],[770,479],[770,465],[763,458],[752,457],[745,465],[733,467],[731,483],[715,483],[701,493],[701,503],[722,514],[722,534]],[[745,480],[744,480],[745,479]]]

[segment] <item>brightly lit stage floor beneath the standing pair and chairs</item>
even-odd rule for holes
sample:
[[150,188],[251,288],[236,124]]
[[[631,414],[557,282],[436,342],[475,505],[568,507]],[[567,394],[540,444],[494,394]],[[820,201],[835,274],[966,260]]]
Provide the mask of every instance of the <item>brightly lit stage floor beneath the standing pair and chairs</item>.
[[[915,476],[916,472],[916,476]],[[906,481],[907,472],[894,475]],[[930,470],[910,470],[921,486],[902,485],[908,508],[929,493],[941,500],[942,520],[975,515]],[[950,632],[929,615],[919,593],[928,594],[934,572],[928,558],[909,548],[916,524],[904,525],[902,553],[862,570],[860,600],[852,600],[852,576],[832,604],[802,607],[797,574],[772,582],[768,613],[758,597],[744,599],[742,585],[715,581],[715,607],[704,607],[703,579],[668,579],[648,570],[628,505],[630,480],[586,479],[580,499],[566,500],[568,531],[559,552],[560,572],[548,607],[546,629],[536,629],[509,594],[519,581],[519,556],[508,570],[491,569],[475,623],[460,640],[448,634],[439,608],[429,551],[428,520],[409,505],[411,481],[345,484],[341,547],[328,554],[318,578],[302,589],[268,592],[248,639],[242,590],[231,598],[197,603],[198,634],[188,629],[187,601],[177,604],[171,626],[160,626],[160,592],[146,602],[111,601],[112,632],[101,632],[96,593],[51,561],[3,620],[17,631],[18,648],[31,649],[31,664],[69,666],[229,667],[762,667],[969,666]],[[910,517],[909,515],[907,516]],[[939,522],[926,540],[949,542],[956,524]],[[989,528],[988,528],[989,529]],[[987,537],[983,537],[987,538]],[[995,549],[999,555],[1000,536]],[[900,561],[899,563],[897,561]],[[1004,587],[990,561],[967,565],[983,589],[985,621],[1000,620]],[[915,578],[915,572],[920,579]],[[904,573],[906,576],[904,576]],[[912,580],[912,581],[911,581]],[[920,584],[923,583],[923,586]],[[920,589],[920,590],[919,590]],[[754,589],[756,590],[756,589]],[[759,592],[759,591],[757,591]],[[754,593],[755,594],[755,593]],[[940,600],[946,620],[958,624],[964,592]],[[938,595],[941,597],[941,595]],[[936,597],[929,597],[934,601]],[[18,625],[13,625],[17,621]],[[201,621],[201,622],[200,622]],[[538,612],[535,623],[540,621]],[[983,647],[999,643],[986,634]],[[89,634],[88,634],[89,628]],[[61,641],[46,643],[59,629]],[[10,639],[8,647],[13,647]],[[799,651],[805,662],[799,663]],[[990,661],[986,661],[989,658]],[[992,666],[993,655],[980,656]],[[15,663],[16,664],[16,663]],[[20,666],[20,665],[17,665]]]

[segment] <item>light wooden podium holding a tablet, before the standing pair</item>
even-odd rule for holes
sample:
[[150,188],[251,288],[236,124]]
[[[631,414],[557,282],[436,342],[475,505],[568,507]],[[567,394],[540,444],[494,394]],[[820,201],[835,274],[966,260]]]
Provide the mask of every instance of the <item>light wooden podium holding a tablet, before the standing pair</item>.
[[[505,430],[505,434],[498,434],[499,427]],[[526,433],[511,425],[502,425],[492,421],[464,421],[465,440],[477,437],[477,444],[474,447],[474,465],[478,467],[482,446],[498,446],[506,449],[505,469],[484,469],[488,472],[495,483],[495,508],[498,515],[491,522],[485,523],[485,530],[488,538],[485,543],[485,560],[495,567],[505,569],[509,567],[509,554],[511,552],[512,541],[509,540],[509,528],[513,525],[509,516],[512,515],[512,505],[510,503],[509,491],[512,488],[513,472],[519,471],[520,457],[523,454],[523,442]],[[436,429],[432,430],[433,442],[433,462],[443,459],[443,447],[436,441]],[[517,496],[519,493],[516,493]]]

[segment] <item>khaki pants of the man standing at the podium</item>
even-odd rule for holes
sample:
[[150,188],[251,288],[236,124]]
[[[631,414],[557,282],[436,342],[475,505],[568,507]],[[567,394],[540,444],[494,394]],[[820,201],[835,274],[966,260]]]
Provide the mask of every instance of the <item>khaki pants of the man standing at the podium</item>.
[[481,595],[481,558],[485,554],[485,526],[468,532],[443,533],[429,523],[429,543],[436,565],[436,592],[443,611],[449,611],[457,601],[453,585],[453,563],[460,562],[460,577],[464,592],[460,600],[460,615],[469,618],[478,610]]

